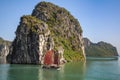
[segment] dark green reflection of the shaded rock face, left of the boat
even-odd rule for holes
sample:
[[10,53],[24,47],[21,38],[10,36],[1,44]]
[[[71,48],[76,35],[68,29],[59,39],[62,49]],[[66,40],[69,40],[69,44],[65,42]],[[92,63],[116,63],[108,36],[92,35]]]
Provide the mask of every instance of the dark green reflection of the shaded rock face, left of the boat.
[[38,65],[12,64],[7,72],[7,80],[38,80]]

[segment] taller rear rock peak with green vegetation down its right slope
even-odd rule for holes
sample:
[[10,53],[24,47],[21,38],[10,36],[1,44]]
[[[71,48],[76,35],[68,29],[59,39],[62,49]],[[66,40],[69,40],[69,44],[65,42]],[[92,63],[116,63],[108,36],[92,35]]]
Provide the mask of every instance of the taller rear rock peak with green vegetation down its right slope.
[[40,2],[32,16],[46,22],[54,39],[55,49],[62,46],[67,61],[84,61],[82,51],[82,29],[66,9],[49,2]]

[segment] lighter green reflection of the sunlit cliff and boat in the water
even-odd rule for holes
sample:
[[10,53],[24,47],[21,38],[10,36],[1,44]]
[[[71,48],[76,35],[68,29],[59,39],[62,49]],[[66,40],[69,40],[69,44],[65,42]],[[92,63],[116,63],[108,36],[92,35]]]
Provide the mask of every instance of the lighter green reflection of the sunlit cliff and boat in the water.
[[39,69],[39,80],[84,80],[86,64],[67,63],[60,70]]

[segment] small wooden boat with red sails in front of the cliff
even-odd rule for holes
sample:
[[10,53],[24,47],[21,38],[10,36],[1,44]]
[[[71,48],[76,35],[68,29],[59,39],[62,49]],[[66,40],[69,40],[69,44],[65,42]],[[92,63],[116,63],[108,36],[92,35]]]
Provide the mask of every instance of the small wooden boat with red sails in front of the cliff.
[[48,50],[42,58],[42,68],[60,70],[60,66],[66,63],[63,53],[64,49],[62,46],[59,46],[56,51],[53,49]]

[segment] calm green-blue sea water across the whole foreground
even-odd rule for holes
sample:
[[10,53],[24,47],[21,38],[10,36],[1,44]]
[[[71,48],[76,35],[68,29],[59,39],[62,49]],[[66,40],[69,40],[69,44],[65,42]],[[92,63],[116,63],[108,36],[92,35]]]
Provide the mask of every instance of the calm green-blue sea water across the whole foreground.
[[120,60],[67,63],[61,70],[39,65],[0,64],[0,80],[120,80]]

